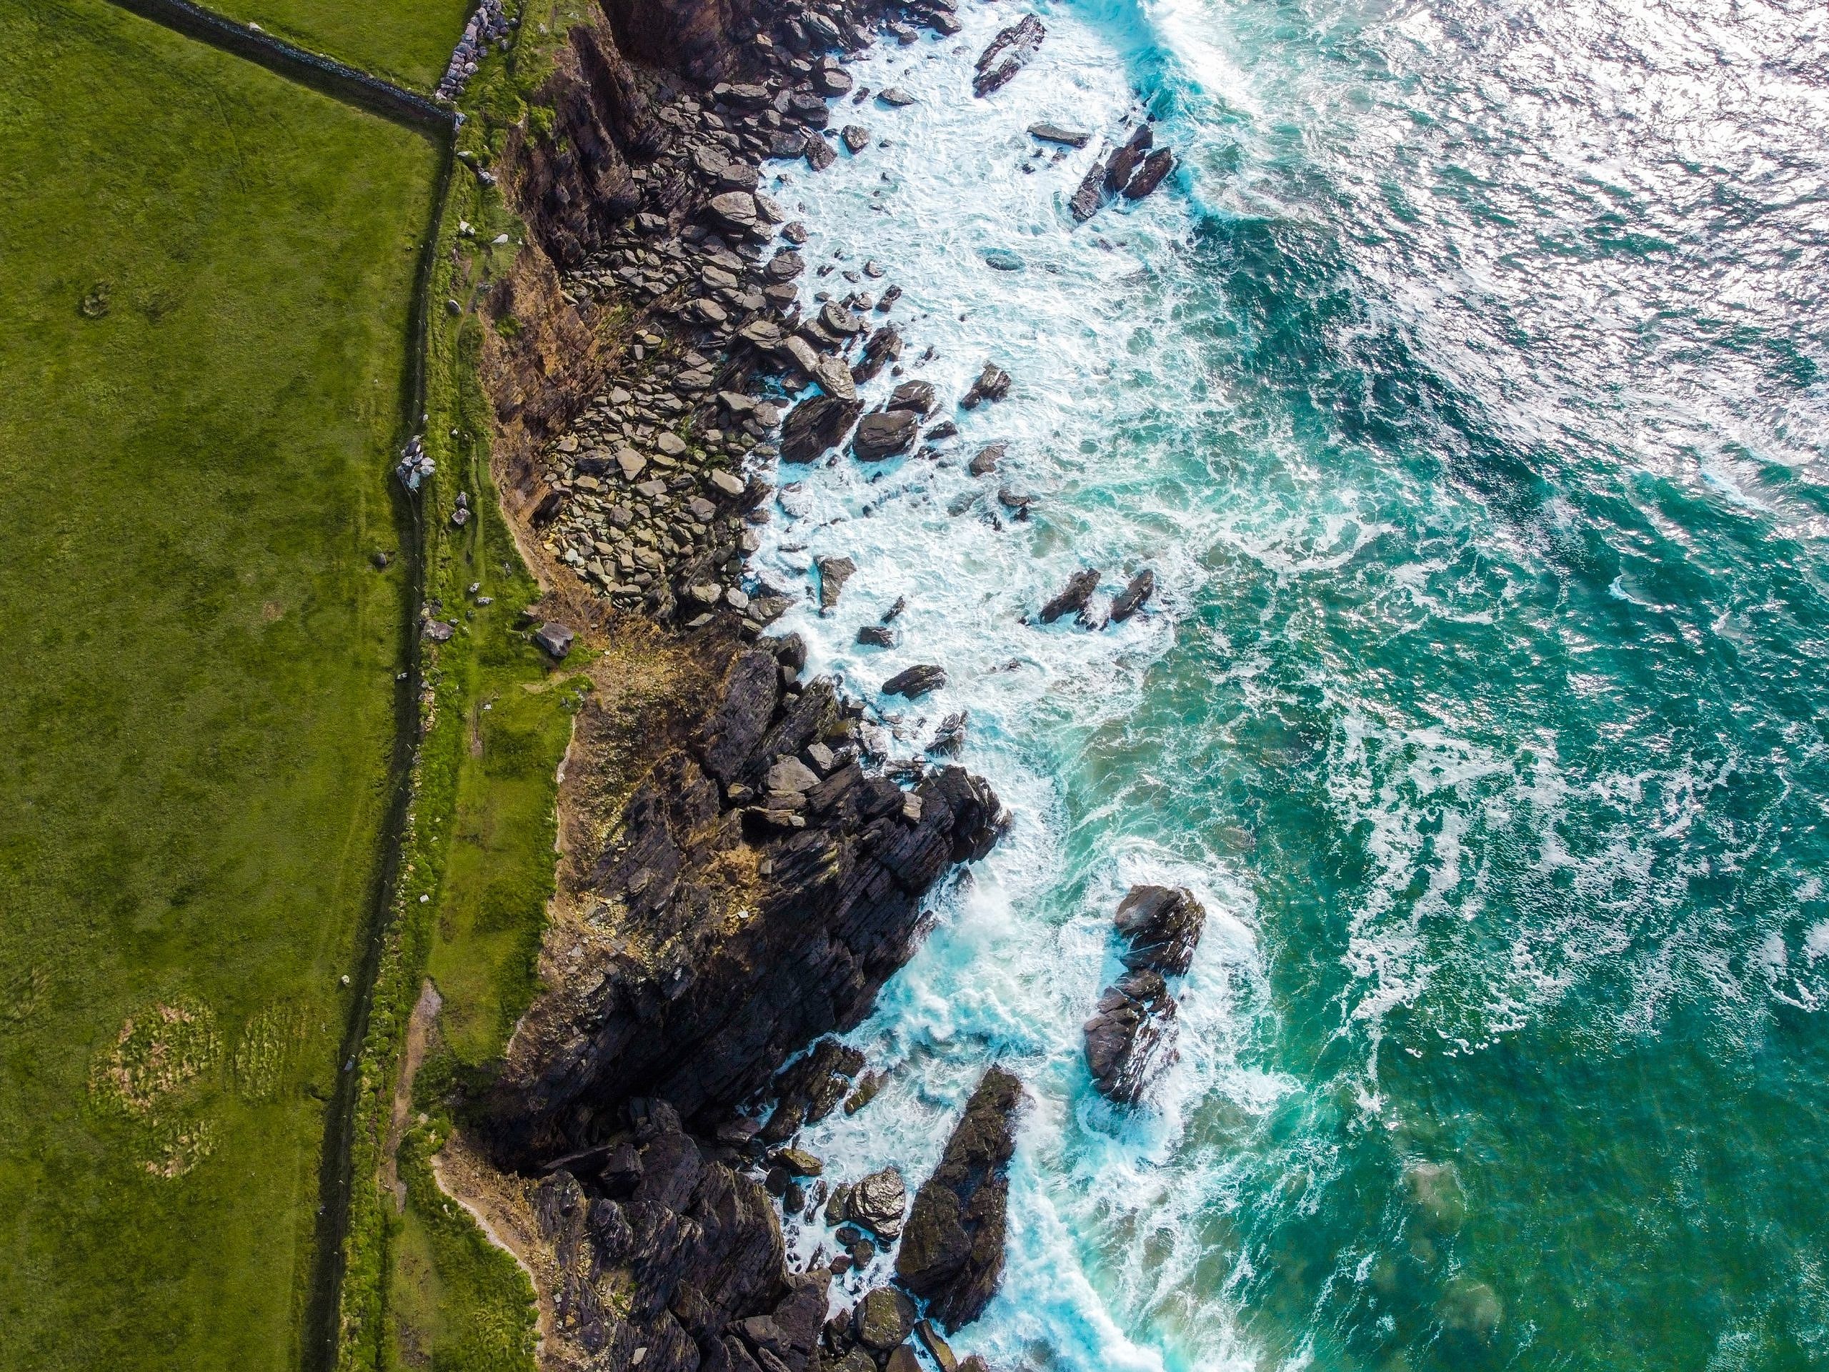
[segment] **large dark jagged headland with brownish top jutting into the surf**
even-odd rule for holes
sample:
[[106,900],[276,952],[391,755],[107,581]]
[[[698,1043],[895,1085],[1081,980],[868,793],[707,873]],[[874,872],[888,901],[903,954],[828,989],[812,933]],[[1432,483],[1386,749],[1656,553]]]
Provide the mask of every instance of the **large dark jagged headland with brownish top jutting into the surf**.
[[[816,785],[772,781],[819,756]],[[607,937],[510,1045],[497,1154],[527,1167],[594,1147],[604,1103],[636,1096],[713,1123],[801,1045],[863,1017],[913,951],[920,898],[999,825],[962,768],[911,790],[867,776],[830,681],[801,688],[774,653],[735,651],[717,706],[636,787],[596,863]]]

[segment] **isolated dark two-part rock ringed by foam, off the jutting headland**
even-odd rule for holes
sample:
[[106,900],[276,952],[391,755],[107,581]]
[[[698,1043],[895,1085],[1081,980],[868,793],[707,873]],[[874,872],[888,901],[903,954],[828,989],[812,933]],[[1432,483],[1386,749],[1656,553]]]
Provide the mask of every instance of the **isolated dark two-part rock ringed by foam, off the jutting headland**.
[[1086,1067],[1110,1099],[1130,1105],[1174,1063],[1174,995],[1169,977],[1194,960],[1205,907],[1182,887],[1136,885],[1114,916],[1125,942],[1125,975],[1105,988],[1086,1021]]

